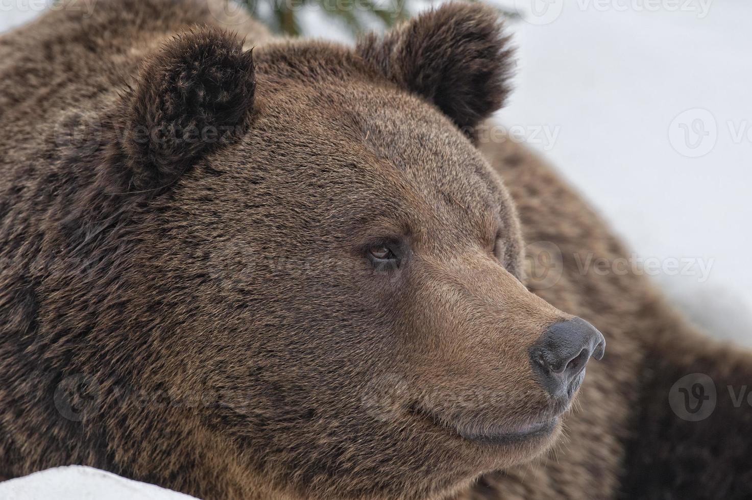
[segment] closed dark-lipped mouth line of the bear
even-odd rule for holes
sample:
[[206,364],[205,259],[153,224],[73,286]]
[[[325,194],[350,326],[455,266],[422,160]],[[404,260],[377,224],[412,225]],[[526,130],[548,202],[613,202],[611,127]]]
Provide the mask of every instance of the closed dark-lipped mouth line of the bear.
[[463,423],[442,418],[435,412],[419,405],[412,405],[410,412],[456,437],[480,444],[515,444],[535,438],[546,438],[553,434],[559,424],[559,417],[512,426],[501,426],[493,423]]

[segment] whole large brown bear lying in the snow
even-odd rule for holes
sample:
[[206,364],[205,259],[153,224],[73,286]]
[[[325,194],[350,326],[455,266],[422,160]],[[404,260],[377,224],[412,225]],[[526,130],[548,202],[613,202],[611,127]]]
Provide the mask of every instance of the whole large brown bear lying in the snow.
[[484,142],[514,66],[493,9],[344,47],[214,1],[80,7],[0,37],[0,480],[752,496],[750,354],[583,270],[625,250]]

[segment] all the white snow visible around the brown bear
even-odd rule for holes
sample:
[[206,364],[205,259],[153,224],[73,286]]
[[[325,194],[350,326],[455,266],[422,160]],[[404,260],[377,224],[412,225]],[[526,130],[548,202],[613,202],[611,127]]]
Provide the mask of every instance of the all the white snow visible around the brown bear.
[[[0,0],[0,32],[33,19],[45,1]],[[752,2],[496,2],[521,14],[508,22],[518,71],[499,123],[648,259],[688,317],[752,346]],[[310,36],[351,39],[315,8],[304,21]],[[179,498],[91,471],[7,481],[0,498]]]

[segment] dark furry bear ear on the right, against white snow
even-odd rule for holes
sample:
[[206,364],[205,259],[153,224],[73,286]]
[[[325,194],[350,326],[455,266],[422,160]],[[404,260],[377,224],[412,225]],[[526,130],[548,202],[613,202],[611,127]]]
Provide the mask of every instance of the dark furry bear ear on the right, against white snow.
[[501,108],[513,66],[498,12],[450,3],[388,32],[367,35],[356,51],[367,65],[422,95],[468,135]]

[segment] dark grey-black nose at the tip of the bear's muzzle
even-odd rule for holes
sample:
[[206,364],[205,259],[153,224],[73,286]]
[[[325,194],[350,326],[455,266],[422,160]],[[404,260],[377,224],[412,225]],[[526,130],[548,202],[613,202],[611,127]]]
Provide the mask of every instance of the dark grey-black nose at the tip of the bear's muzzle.
[[530,361],[551,395],[571,397],[582,383],[587,360],[601,359],[605,347],[605,338],[595,326],[574,318],[551,325],[530,349]]

